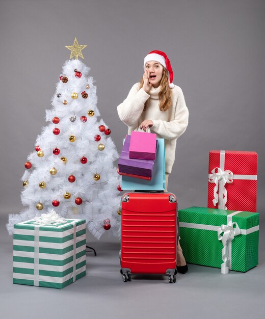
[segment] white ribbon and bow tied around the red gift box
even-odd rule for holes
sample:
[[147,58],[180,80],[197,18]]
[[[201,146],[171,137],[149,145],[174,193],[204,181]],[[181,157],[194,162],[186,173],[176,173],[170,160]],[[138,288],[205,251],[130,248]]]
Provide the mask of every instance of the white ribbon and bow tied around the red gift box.
[[[214,206],[218,203],[219,209],[227,209],[227,191],[225,184],[230,184],[233,179],[251,179],[256,180],[257,175],[235,175],[230,170],[225,170],[225,151],[220,151],[220,167],[216,167],[208,175],[208,182],[215,183],[214,188]],[[217,194],[218,191],[218,194]]]

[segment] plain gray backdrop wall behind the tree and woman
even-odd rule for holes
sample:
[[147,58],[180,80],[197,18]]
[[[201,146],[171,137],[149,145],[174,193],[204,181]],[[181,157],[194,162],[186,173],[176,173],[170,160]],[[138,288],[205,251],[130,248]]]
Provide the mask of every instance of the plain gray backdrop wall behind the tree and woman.
[[210,149],[254,150],[264,215],[264,9],[258,0],[0,0],[1,213],[22,207],[24,162],[76,36],[118,151],[127,129],[116,107],[145,55],[165,50],[190,111],[169,179],[179,207],[207,205]]

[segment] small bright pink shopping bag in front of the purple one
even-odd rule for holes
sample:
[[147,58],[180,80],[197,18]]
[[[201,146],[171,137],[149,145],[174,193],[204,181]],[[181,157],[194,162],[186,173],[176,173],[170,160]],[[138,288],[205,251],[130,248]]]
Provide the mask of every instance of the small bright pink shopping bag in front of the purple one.
[[129,157],[155,160],[156,134],[148,132],[131,132]]

